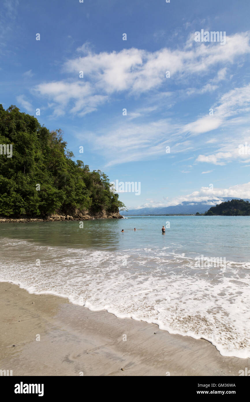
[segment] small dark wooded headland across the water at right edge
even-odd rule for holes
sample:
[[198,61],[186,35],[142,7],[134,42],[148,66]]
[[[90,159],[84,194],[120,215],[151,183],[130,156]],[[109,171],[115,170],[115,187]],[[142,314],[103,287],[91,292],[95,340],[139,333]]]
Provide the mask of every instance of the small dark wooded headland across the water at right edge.
[[205,215],[250,215],[250,203],[244,200],[231,200],[211,207]]

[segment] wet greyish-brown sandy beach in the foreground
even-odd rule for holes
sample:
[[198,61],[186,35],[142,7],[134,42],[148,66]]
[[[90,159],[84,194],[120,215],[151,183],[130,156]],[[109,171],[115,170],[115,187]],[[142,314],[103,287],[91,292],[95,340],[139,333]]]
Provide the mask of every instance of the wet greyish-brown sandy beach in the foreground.
[[238,376],[250,367],[250,359],[224,357],[206,340],[10,283],[0,283],[0,301],[0,369],[13,376]]

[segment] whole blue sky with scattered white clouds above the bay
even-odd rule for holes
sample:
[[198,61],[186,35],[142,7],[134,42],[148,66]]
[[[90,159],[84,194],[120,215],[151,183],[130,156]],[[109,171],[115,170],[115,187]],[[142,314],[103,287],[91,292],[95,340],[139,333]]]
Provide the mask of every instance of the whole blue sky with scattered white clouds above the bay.
[[39,108],[75,159],[140,182],[129,208],[250,198],[249,15],[246,0],[4,0],[0,103]]

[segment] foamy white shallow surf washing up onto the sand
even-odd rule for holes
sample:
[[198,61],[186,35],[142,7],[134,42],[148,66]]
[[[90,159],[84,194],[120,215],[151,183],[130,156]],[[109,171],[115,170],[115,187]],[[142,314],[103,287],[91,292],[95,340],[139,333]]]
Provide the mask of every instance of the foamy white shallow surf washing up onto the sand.
[[250,263],[199,269],[195,255],[178,248],[110,252],[6,238],[0,246],[0,281],[207,339],[224,356],[250,358]]

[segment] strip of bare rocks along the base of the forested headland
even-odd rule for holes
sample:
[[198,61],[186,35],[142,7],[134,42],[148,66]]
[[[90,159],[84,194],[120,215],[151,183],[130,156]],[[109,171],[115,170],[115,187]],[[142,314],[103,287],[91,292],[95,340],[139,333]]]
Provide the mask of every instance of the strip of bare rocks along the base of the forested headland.
[[6,218],[0,217],[0,223],[4,222],[16,222],[16,223],[26,223],[26,222],[56,222],[56,221],[86,221],[90,219],[122,219],[123,216],[120,215],[119,212],[107,212],[105,210],[97,212],[97,213],[90,213],[89,211],[83,212],[75,212],[71,215],[50,215],[45,217],[44,219],[41,218]]

